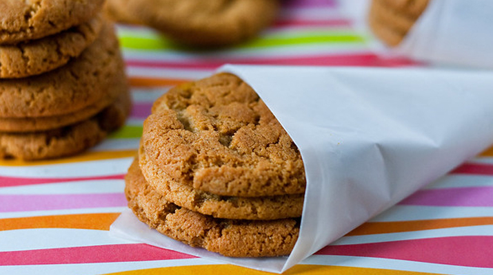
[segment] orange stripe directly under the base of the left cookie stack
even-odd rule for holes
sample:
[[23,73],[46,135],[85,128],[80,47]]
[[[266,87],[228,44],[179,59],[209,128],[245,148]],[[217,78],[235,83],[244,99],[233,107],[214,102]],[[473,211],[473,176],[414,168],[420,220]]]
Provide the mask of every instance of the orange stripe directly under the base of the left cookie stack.
[[20,159],[1,159],[0,166],[34,166],[34,165],[47,165],[47,164],[63,164],[63,163],[71,163],[71,162],[88,162],[92,160],[133,157],[136,154],[137,154],[136,150],[123,150],[123,151],[85,152],[80,155],[74,155],[73,157],[38,160],[33,162],[26,162]]

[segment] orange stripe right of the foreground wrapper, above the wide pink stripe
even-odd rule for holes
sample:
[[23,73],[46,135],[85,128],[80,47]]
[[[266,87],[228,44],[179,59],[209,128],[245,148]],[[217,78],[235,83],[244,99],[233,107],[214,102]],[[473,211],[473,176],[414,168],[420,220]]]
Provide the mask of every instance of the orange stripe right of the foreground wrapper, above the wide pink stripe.
[[456,219],[430,219],[421,221],[383,221],[363,223],[349,232],[348,236],[410,232],[439,228],[459,228],[462,226],[493,225],[493,217],[474,217]]

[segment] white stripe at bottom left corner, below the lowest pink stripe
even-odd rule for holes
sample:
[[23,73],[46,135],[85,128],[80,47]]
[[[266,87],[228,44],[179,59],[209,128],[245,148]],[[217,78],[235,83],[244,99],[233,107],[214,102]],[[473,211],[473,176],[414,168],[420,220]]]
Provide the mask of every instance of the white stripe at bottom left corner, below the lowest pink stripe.
[[130,270],[148,270],[151,268],[188,265],[220,265],[220,263],[214,263],[205,259],[196,258],[121,263],[79,263],[72,265],[8,265],[0,266],[0,274],[99,275],[114,272],[125,272]]

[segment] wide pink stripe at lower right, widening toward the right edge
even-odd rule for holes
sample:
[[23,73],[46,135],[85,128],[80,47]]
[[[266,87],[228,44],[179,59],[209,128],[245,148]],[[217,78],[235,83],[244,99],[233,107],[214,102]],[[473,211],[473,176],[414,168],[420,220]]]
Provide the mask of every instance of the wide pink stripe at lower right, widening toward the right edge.
[[328,245],[316,254],[493,267],[493,236],[449,236],[357,245]]

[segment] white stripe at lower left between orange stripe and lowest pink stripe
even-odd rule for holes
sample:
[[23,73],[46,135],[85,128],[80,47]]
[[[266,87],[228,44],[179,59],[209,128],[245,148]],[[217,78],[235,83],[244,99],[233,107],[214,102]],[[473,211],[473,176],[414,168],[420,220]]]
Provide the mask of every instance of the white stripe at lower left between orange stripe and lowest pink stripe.
[[136,243],[112,238],[105,230],[37,228],[0,231],[0,252]]

